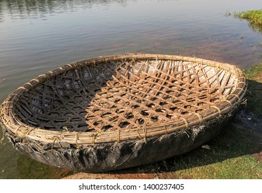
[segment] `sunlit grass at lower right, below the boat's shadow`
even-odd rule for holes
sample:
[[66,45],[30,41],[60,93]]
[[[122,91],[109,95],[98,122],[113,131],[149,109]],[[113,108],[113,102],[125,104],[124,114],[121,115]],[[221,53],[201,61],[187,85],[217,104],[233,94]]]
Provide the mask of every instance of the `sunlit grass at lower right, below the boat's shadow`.
[[154,171],[163,179],[262,179],[262,162],[252,156],[261,151],[259,141],[261,136],[255,132],[228,125],[207,143],[210,150],[197,148],[146,165],[143,172]]

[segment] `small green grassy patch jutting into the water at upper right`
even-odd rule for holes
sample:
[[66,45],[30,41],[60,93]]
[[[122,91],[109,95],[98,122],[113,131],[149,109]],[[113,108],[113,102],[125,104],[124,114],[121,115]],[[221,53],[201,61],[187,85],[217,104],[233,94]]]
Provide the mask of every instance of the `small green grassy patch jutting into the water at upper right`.
[[238,19],[246,19],[250,23],[250,27],[252,27],[253,30],[259,30],[262,32],[262,10],[234,12],[234,17]]

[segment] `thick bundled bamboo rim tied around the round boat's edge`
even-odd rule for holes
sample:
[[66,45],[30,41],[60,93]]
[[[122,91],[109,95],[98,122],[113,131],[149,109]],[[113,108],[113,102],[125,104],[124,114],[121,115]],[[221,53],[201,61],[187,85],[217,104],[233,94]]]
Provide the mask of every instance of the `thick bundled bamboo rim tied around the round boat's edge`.
[[[50,79],[54,79],[54,77],[59,77],[65,72],[77,71],[79,69],[81,70],[81,68],[85,68],[85,66],[88,65],[100,65],[102,63],[109,64],[110,61],[132,61],[135,63],[136,61],[141,60],[183,61],[197,63],[197,65],[205,65],[209,68],[225,71],[228,74],[232,74],[234,77],[234,90],[232,90],[232,92],[230,92],[230,94],[225,96],[223,99],[221,98],[221,100],[214,105],[210,103],[211,105],[208,105],[210,108],[206,110],[200,112],[191,112],[188,115],[181,116],[179,119],[165,121],[163,123],[133,125],[132,128],[122,130],[117,129],[112,131],[95,129],[92,132],[77,132],[68,131],[66,127],[64,130],[60,131],[46,130],[45,128],[35,127],[34,125],[27,124],[25,121],[18,119],[17,114],[14,111],[14,107],[19,105],[21,96],[28,92],[28,90],[31,90],[32,88],[35,88]],[[229,76],[231,75],[228,75],[228,77]],[[190,78],[190,75],[188,75],[188,77]],[[191,84],[190,80],[188,80],[188,84]],[[196,87],[197,86],[199,85],[196,85]],[[218,89],[222,90],[221,88],[223,86],[225,87],[225,85],[219,84]],[[3,125],[3,129],[11,139],[12,143],[14,143],[16,148],[18,148],[18,144],[28,143],[31,144],[31,146],[34,146],[34,150],[37,148],[37,151],[39,152],[53,152],[53,150],[63,152],[67,148],[75,148],[76,150],[80,150],[93,147],[94,145],[128,143],[127,141],[146,141],[147,139],[159,139],[161,136],[172,135],[174,133],[186,133],[186,130],[190,128],[195,128],[199,125],[209,125],[210,120],[211,122],[214,122],[214,120],[219,119],[220,121],[218,121],[218,123],[220,123],[223,121],[223,119],[227,119],[228,114],[231,116],[232,112],[240,105],[240,103],[243,101],[246,90],[247,83],[245,75],[241,70],[239,70],[239,68],[228,63],[219,63],[216,61],[197,59],[193,57],[181,57],[174,55],[170,56],[164,54],[125,54],[109,57],[98,57],[65,65],[46,74],[41,74],[39,77],[32,79],[28,83],[22,85],[12,94],[10,94],[6,101],[2,103],[0,115],[1,125]],[[198,96],[198,94],[196,94],[196,96]],[[201,99],[198,100],[201,101]],[[71,169],[74,170],[75,168]]]

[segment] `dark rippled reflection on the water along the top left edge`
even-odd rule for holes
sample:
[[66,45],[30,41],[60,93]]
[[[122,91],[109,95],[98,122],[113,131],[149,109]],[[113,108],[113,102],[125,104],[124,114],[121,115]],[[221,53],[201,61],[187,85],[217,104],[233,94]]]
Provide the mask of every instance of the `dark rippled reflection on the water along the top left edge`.
[[0,22],[3,22],[3,12],[8,12],[12,19],[36,18],[94,5],[106,7],[111,3],[126,6],[127,0],[0,0]]

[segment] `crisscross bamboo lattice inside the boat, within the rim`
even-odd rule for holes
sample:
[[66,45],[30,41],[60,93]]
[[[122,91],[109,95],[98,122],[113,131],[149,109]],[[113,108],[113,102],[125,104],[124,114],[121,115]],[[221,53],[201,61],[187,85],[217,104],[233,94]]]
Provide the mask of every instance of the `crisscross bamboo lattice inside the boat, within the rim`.
[[54,131],[129,130],[199,114],[235,88],[234,74],[203,63],[104,60],[43,81],[20,96],[14,112],[23,123]]

